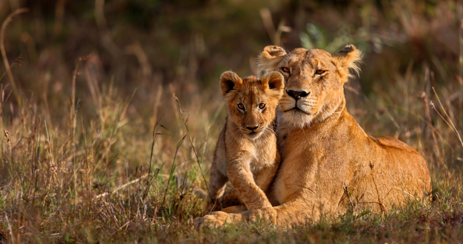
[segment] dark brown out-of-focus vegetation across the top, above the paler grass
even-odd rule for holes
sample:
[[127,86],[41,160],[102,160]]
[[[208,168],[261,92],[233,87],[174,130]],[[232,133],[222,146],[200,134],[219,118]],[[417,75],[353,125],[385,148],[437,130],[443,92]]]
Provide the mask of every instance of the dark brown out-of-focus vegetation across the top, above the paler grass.
[[66,92],[76,60],[88,54],[96,82],[113,79],[128,95],[138,87],[134,101],[147,101],[160,84],[215,89],[223,70],[254,73],[269,44],[332,53],[357,45],[366,54],[359,80],[367,95],[396,83],[392,71],[429,67],[438,84],[461,72],[449,65],[458,63],[463,16],[455,1],[3,0],[0,20],[18,8],[29,13],[8,26],[5,49],[10,63],[23,57],[14,72],[25,96]]

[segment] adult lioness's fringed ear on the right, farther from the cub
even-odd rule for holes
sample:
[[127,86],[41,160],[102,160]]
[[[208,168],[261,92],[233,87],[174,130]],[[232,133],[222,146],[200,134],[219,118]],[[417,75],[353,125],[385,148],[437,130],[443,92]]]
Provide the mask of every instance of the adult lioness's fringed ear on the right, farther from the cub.
[[354,76],[349,72],[352,69],[357,75],[360,72],[359,63],[362,61],[363,54],[354,45],[347,45],[334,56],[334,64],[338,68],[341,80],[345,83],[348,77]]

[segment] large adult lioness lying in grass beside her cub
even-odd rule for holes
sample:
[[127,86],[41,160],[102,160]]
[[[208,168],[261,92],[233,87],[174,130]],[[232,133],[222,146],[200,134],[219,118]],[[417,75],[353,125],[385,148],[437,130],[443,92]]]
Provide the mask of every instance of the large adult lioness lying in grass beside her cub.
[[[367,135],[347,112],[343,85],[360,60],[353,45],[335,55],[267,46],[258,57],[262,72],[278,71],[285,80],[277,108],[282,161],[268,196],[278,205],[271,214],[279,225],[347,210],[384,212],[431,190],[426,161],[415,149],[392,137]],[[218,211],[201,224],[247,218],[248,212]]]

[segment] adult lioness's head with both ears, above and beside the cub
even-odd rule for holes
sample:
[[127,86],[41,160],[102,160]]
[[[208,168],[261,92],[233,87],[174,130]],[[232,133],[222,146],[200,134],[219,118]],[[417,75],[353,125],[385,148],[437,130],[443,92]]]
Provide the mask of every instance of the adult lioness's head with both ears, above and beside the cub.
[[343,85],[362,54],[353,45],[335,55],[322,49],[296,48],[287,53],[278,46],[267,46],[258,57],[261,73],[278,71],[284,76],[284,95],[280,100],[282,122],[304,127],[323,121],[344,101]]

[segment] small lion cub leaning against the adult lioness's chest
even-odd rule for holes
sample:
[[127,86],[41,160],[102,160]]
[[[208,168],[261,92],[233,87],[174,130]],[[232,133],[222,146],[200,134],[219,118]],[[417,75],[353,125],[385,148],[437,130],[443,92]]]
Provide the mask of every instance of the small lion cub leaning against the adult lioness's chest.
[[255,76],[242,79],[231,71],[220,76],[228,116],[210,170],[212,204],[220,205],[218,198],[229,180],[236,191],[225,194],[224,198],[244,203],[253,216],[272,207],[265,191],[280,163],[273,119],[278,100],[283,96],[283,79],[279,72],[268,73],[261,79]]

